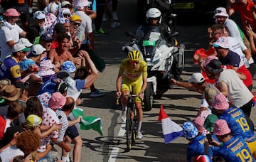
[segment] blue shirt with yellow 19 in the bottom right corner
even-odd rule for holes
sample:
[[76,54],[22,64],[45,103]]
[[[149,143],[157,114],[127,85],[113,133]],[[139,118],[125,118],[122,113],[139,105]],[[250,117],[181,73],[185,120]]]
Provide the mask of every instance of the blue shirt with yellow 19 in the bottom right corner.
[[215,152],[214,156],[221,156],[225,161],[255,161],[242,136],[233,136]]

